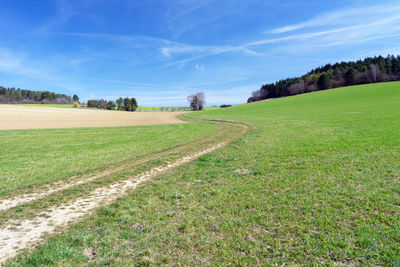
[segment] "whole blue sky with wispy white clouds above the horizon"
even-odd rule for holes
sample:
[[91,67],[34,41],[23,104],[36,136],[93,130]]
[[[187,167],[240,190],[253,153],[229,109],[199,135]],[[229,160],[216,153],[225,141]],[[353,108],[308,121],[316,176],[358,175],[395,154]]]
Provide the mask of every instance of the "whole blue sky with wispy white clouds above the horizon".
[[400,1],[0,0],[0,32],[3,86],[238,104],[326,63],[400,54]]

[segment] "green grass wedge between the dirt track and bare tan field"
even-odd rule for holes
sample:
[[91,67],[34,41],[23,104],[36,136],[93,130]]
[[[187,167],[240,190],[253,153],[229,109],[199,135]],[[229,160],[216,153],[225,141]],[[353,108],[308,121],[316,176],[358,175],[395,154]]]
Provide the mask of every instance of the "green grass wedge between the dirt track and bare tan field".
[[140,158],[215,132],[187,123],[0,131],[0,195]]

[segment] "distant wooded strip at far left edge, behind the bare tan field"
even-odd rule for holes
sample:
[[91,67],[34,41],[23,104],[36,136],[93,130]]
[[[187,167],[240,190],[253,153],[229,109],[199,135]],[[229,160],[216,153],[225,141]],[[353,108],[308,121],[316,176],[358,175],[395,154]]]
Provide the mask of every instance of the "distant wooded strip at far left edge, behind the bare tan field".
[[1,104],[68,104],[79,97],[66,94],[58,94],[49,91],[33,91],[26,89],[6,88],[0,86]]

